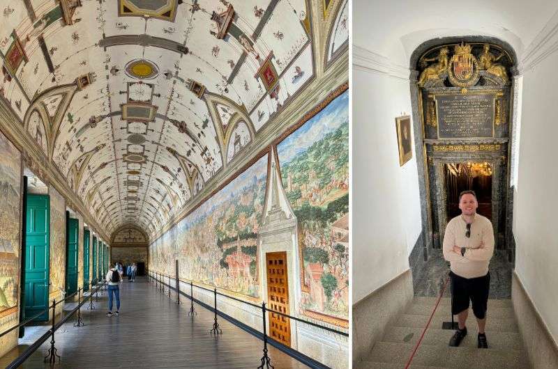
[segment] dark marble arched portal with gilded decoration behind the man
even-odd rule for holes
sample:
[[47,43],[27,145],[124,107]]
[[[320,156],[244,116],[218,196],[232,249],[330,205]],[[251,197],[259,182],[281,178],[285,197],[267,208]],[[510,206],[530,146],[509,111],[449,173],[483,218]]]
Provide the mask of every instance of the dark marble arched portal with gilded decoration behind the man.
[[442,246],[460,191],[478,193],[497,249],[513,261],[510,157],[514,120],[513,49],[495,38],[439,38],[411,58],[424,255]]

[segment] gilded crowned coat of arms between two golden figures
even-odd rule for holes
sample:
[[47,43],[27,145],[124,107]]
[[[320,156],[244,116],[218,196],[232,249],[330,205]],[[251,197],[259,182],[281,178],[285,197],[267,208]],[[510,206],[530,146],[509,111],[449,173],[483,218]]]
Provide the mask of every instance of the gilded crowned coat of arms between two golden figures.
[[453,86],[474,86],[478,82],[478,61],[469,44],[455,45],[455,52],[448,65],[448,78]]

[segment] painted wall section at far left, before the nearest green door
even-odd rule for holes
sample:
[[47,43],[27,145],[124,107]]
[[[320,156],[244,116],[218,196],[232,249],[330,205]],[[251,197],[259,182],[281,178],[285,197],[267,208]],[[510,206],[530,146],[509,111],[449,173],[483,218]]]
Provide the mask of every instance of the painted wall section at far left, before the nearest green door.
[[20,152],[0,133],[0,317],[16,313],[20,249]]

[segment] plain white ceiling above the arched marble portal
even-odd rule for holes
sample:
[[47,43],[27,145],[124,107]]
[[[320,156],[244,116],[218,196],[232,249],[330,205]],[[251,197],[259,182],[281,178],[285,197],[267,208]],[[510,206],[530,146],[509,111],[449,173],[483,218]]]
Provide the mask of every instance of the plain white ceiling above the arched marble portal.
[[353,0],[353,43],[408,68],[414,49],[433,36],[492,36],[521,60],[557,10],[555,0]]

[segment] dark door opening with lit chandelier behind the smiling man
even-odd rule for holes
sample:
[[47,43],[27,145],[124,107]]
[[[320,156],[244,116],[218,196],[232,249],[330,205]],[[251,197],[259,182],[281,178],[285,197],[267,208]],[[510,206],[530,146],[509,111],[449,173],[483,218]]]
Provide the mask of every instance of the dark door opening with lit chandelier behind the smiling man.
[[492,166],[486,162],[444,164],[446,178],[448,221],[461,214],[459,194],[466,189],[475,191],[478,214],[492,221]]

